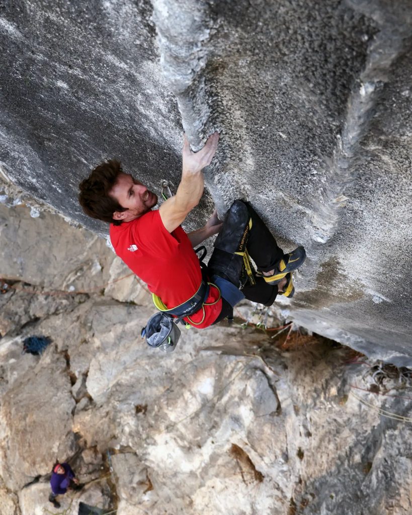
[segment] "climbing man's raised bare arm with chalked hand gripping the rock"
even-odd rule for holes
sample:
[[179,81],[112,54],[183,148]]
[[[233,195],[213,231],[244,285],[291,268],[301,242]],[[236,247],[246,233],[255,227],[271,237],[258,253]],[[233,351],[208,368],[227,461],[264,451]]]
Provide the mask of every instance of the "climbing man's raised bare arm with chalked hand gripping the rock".
[[219,134],[215,132],[209,136],[204,147],[195,153],[184,136],[182,179],[176,195],[168,198],[159,208],[160,217],[168,232],[179,227],[187,214],[199,203],[204,187],[202,169],[211,163],[218,141]]

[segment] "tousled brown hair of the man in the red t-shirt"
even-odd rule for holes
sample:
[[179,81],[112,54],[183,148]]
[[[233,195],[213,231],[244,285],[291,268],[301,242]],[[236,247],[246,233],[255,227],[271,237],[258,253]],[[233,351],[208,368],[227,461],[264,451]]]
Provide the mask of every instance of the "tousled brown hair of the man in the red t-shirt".
[[121,225],[122,220],[114,220],[113,213],[126,211],[126,208],[122,208],[109,192],[122,173],[121,163],[109,159],[96,166],[89,177],[81,181],[79,202],[85,214],[109,224]]

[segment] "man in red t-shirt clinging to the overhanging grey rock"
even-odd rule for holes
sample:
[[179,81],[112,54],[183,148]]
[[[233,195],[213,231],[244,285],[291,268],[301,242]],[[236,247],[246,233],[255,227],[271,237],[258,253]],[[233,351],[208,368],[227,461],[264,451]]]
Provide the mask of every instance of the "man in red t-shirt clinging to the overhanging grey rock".
[[[115,160],[99,164],[79,186],[84,212],[110,223],[116,254],[147,283],[156,307],[200,329],[230,318],[233,306],[245,297],[270,306],[277,295],[293,296],[291,272],[305,260],[303,247],[285,254],[242,200],[233,202],[224,222],[215,210],[204,227],[189,233],[182,229],[202,196],[202,169],[211,163],[218,140],[216,132],[193,152],[184,137],[181,181],[176,195],[158,210],[153,209],[157,195]],[[208,266],[201,268],[194,247],[215,234]]]

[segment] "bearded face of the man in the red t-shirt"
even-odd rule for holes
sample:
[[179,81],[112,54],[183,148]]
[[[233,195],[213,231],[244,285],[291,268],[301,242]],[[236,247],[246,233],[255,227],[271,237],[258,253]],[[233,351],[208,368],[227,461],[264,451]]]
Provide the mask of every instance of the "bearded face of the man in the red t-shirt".
[[123,173],[118,175],[115,185],[110,190],[110,196],[115,198],[122,208],[127,208],[126,211],[116,211],[113,214],[114,219],[123,221],[138,218],[158,203],[157,195],[131,175]]

